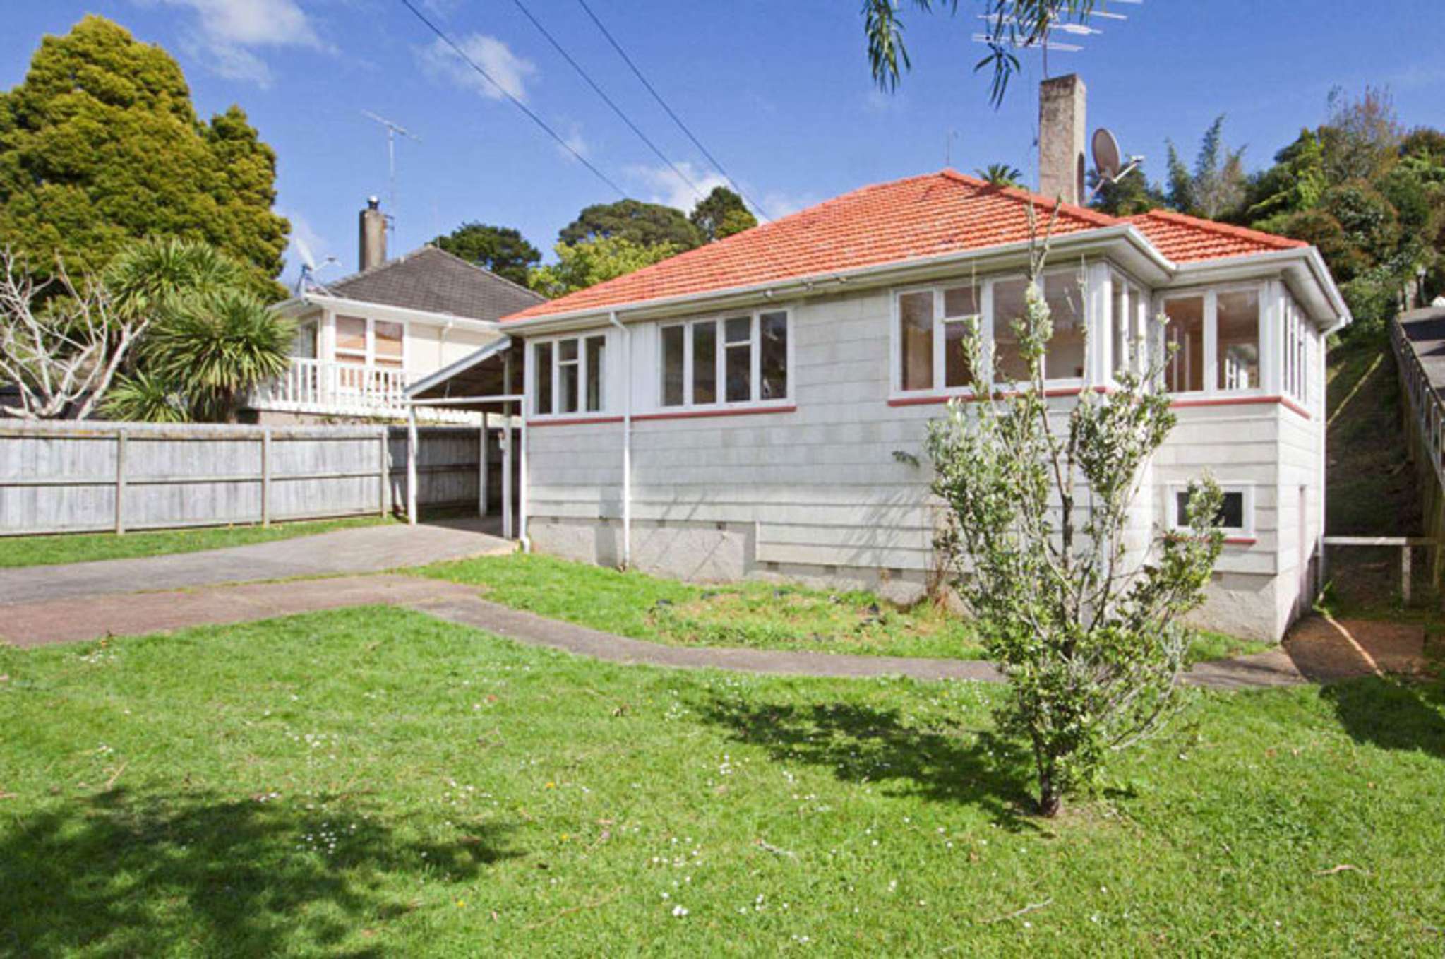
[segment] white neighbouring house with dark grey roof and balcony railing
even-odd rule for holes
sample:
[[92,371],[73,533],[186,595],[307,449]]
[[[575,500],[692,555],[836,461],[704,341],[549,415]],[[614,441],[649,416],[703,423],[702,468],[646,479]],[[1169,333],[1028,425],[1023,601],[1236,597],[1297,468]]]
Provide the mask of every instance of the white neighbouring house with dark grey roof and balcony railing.
[[[497,341],[497,320],[545,302],[539,294],[435,246],[386,259],[386,218],[371,200],[360,217],[361,270],[303,282],[277,310],[296,321],[290,369],[256,391],[260,422],[396,419],[405,391]],[[434,419],[473,414],[428,411]]]

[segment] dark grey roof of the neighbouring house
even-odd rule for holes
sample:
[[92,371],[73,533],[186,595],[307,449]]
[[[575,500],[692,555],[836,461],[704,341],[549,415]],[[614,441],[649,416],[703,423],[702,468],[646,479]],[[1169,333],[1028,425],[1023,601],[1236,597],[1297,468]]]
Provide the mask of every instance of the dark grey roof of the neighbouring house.
[[344,299],[468,320],[500,320],[546,299],[435,246],[325,284],[322,291]]

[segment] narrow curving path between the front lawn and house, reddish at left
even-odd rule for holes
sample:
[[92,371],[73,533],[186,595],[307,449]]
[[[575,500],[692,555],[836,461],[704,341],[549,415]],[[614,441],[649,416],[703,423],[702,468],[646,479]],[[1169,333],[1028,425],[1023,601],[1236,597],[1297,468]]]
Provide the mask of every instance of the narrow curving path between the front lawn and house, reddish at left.
[[[610,662],[738,673],[1000,683],[987,662],[772,649],[668,647],[616,636],[487,602],[474,586],[413,576],[345,576],[111,594],[91,602],[45,599],[0,608],[0,639],[20,647],[223,625],[361,605],[406,606],[448,622]],[[1194,667],[1185,681],[1215,690],[1334,681],[1423,665],[1420,626],[1306,619],[1279,649]]]

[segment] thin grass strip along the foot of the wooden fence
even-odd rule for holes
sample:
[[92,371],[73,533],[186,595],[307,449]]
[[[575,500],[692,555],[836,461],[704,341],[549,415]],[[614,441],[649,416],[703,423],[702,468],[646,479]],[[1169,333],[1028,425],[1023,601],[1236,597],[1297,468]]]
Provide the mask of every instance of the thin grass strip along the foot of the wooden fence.
[[199,529],[160,529],[155,532],[79,532],[52,537],[0,537],[0,568],[20,566],[55,566],[58,563],[91,563],[94,560],[133,560],[171,553],[197,553],[223,547],[244,547],[253,542],[273,542],[293,537],[309,537],[334,529],[376,527],[393,522],[381,516],[353,516],[285,522],[272,527],[207,527]]

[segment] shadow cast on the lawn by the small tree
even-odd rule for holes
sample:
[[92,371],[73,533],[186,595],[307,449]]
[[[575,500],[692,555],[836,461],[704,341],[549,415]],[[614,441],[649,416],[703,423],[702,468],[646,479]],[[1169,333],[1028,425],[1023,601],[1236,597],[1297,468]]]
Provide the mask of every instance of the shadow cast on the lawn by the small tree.
[[1036,829],[1030,756],[990,730],[910,725],[900,710],[854,703],[747,703],[714,699],[701,716],[759,745],[776,762],[831,768],[844,783],[977,806],[1009,829]]

